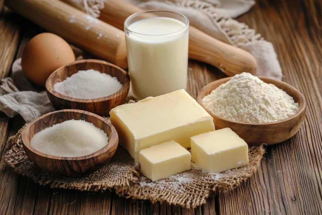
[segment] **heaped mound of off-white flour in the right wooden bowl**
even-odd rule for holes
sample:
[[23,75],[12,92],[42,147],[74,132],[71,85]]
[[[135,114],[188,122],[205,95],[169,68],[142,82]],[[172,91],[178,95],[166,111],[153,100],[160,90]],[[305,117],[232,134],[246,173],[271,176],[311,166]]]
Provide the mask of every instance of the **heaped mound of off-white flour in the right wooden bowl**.
[[228,120],[246,123],[276,122],[298,112],[298,103],[274,84],[250,73],[237,74],[202,100],[205,108]]

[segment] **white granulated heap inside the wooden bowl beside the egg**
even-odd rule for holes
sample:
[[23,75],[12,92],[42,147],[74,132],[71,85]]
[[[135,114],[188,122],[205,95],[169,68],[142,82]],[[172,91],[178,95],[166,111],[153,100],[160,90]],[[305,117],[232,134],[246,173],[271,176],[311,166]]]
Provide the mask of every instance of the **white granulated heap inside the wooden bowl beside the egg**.
[[116,77],[99,71],[81,70],[54,85],[54,90],[78,99],[96,99],[111,95],[122,88]]

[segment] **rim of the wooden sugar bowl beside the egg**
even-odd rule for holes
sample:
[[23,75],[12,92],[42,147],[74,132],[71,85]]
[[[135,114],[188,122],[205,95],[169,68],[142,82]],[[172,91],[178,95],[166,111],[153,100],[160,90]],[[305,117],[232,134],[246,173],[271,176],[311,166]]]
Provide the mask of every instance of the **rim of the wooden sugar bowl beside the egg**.
[[[71,66],[71,65],[76,65],[76,64],[82,64],[82,63],[87,63],[87,62],[90,62],[90,63],[96,63],[96,64],[105,64],[105,65],[108,65],[108,66],[111,66],[111,67],[114,67],[118,70],[118,72],[120,73],[123,73],[124,76],[126,77],[126,82],[124,84],[122,84],[122,87],[121,89],[119,89],[118,91],[116,91],[115,93],[113,94],[110,94],[108,96],[104,96],[104,97],[100,97],[100,98],[95,98],[95,99],[81,99],[81,98],[75,98],[75,97],[71,97],[71,96],[68,96],[68,95],[64,95],[62,93],[59,93],[57,91],[54,90],[54,85],[57,83],[54,83],[54,84],[50,84],[50,81],[53,79],[53,76],[58,72],[60,71],[63,67],[68,67],[68,66]],[[100,71],[99,71],[100,72]],[[75,73],[76,74],[76,73]],[[105,73],[106,74],[106,73]],[[70,76],[69,76],[70,77]],[[66,79],[65,79],[66,80]],[[78,103],[94,103],[94,102],[102,102],[102,101],[107,101],[107,100],[110,100],[110,99],[113,99],[113,98],[116,98],[118,96],[118,94],[123,94],[125,92],[128,92],[129,88],[130,88],[130,77],[128,76],[128,73],[118,67],[117,65],[114,65],[114,64],[111,64],[109,62],[106,62],[106,61],[103,61],[103,60],[97,60],[97,59],[82,59],[82,60],[77,60],[77,61],[74,61],[73,63],[70,63],[70,64],[66,64],[64,66],[61,66],[59,67],[58,69],[56,69],[54,72],[52,72],[50,74],[50,76],[47,78],[46,80],[46,90],[51,93],[53,96],[59,98],[59,99],[64,99],[64,100],[68,100],[68,101],[71,101],[71,102],[78,102]],[[124,92],[122,93],[121,91],[124,89]]]

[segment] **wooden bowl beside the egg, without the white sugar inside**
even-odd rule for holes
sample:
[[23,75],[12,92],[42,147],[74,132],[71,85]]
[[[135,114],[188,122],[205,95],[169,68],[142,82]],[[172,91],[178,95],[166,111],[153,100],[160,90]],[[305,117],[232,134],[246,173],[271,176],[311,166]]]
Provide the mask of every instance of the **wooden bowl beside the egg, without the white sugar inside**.
[[[77,73],[79,70],[94,69],[117,77],[123,84],[122,88],[109,96],[97,99],[78,99],[63,95],[54,91],[57,82],[64,81],[67,77]],[[123,104],[130,89],[130,76],[120,67],[101,60],[79,60],[74,63],[62,66],[55,70],[46,81],[46,92],[50,102],[56,110],[79,109],[106,116],[116,106]]]

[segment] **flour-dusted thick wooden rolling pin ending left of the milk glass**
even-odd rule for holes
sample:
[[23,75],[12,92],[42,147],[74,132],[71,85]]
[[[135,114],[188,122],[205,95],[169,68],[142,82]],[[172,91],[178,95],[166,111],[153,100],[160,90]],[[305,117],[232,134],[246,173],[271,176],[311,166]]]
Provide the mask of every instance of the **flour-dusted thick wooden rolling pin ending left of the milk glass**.
[[48,31],[121,68],[127,68],[125,34],[59,0],[6,0],[5,5]]

